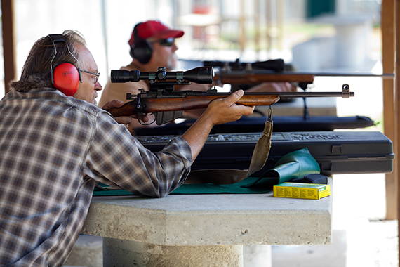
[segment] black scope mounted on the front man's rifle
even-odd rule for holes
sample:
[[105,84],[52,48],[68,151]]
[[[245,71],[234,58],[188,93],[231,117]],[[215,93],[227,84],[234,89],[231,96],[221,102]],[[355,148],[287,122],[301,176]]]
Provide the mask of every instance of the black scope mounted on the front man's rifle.
[[139,82],[140,80],[153,82],[186,80],[197,84],[212,84],[213,67],[195,67],[185,72],[167,72],[165,67],[159,67],[156,72],[140,72],[139,70],[111,71],[111,82]]

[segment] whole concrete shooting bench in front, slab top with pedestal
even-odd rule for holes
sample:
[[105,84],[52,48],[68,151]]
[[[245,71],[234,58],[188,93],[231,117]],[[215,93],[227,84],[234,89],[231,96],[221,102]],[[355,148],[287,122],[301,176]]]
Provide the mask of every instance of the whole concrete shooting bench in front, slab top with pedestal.
[[331,223],[332,195],[102,196],[82,233],[102,237],[104,266],[232,267],[244,266],[246,245],[330,244]]

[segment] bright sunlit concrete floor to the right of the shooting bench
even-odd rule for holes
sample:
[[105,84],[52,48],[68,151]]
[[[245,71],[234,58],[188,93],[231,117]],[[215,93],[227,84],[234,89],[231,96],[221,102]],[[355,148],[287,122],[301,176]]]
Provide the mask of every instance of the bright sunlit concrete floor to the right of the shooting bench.
[[333,176],[333,242],[273,246],[272,266],[398,266],[397,221],[385,219],[385,175]]

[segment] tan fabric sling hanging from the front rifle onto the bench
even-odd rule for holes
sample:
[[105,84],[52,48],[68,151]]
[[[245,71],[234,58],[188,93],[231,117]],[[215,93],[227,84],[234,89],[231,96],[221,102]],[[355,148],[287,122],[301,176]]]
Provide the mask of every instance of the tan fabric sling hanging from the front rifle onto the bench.
[[267,162],[269,150],[271,148],[273,122],[267,119],[265,122],[262,136],[258,139],[253,150],[250,167],[248,170],[239,169],[202,169],[191,171],[184,184],[192,183],[215,183],[215,184],[232,184],[242,181],[244,178],[251,176],[255,171],[259,171]]

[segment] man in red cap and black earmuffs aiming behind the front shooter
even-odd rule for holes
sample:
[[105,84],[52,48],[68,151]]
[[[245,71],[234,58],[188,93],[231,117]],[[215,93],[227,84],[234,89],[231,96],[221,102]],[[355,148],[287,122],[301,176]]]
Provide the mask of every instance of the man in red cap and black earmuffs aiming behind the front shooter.
[[[155,72],[158,67],[166,67],[167,71],[174,70],[177,63],[175,51],[178,46],[175,44],[175,38],[180,38],[184,34],[181,30],[173,30],[159,22],[158,20],[148,20],[140,22],[133,28],[131,39],[128,44],[131,47],[131,64],[121,67],[121,70],[140,70],[140,72]],[[206,91],[210,89],[210,84],[195,84],[189,86],[175,86],[175,90]],[[126,93],[137,95],[139,89],[149,91],[147,81],[112,83],[107,82],[103,89],[102,97],[99,102],[101,107],[110,100],[126,100]],[[267,92],[267,91],[291,91],[293,86],[288,83],[263,83],[248,89],[248,92]],[[204,110],[190,110],[185,114],[189,117],[198,118]],[[150,115],[149,115],[150,117]],[[152,122],[153,118],[150,117]],[[149,126],[156,126],[150,124]],[[135,133],[135,128],[143,127],[137,119],[133,119],[128,125],[129,131]]]

